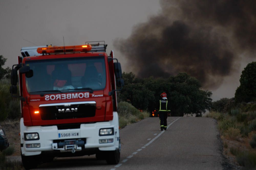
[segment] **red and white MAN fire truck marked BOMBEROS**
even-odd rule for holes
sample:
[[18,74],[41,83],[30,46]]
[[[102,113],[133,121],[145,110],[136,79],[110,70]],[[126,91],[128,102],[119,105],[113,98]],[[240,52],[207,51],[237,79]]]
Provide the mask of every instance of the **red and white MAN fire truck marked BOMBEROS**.
[[[20,147],[26,169],[54,157],[96,154],[120,160],[116,86],[121,65],[105,42],[22,48],[10,93],[20,97]],[[116,62],[114,62],[116,60]],[[19,82],[20,95],[17,93]],[[119,88],[119,89],[120,89]]]

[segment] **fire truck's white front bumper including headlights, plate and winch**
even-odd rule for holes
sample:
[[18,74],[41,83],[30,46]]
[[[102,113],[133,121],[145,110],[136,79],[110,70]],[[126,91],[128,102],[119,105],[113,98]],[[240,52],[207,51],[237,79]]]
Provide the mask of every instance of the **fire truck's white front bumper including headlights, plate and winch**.
[[[114,120],[113,120],[114,121]],[[119,149],[119,128],[113,121],[80,124],[80,128],[61,129],[54,126],[21,126],[22,155],[41,152],[76,152],[97,148],[99,151]],[[23,120],[21,119],[21,125]]]

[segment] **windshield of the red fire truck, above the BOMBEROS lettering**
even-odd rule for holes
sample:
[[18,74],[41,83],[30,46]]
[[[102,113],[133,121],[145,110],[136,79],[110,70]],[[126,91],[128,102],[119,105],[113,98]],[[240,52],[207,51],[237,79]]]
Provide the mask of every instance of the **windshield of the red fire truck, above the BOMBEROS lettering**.
[[29,93],[101,90],[106,85],[104,58],[31,60],[26,65],[33,70],[33,76],[26,77]]

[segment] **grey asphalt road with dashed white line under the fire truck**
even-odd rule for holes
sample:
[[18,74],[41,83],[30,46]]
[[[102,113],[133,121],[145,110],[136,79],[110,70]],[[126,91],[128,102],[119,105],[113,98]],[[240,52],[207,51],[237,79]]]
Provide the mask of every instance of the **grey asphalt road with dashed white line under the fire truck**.
[[118,165],[107,165],[91,155],[57,158],[38,169],[229,169],[214,119],[168,117],[167,122],[166,131],[160,131],[157,117],[121,129]]

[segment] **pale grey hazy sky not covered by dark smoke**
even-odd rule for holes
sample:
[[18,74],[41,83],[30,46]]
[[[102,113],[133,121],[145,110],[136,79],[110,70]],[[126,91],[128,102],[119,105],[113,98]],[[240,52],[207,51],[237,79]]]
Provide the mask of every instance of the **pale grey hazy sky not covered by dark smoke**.
[[[80,45],[86,41],[105,41],[107,53],[114,50],[123,71],[130,72],[122,54],[114,49],[117,38],[127,38],[132,28],[161,10],[157,0],[0,0],[0,55],[4,67],[17,63],[21,47],[40,45]],[[31,43],[30,43],[31,42]],[[241,61],[242,70],[249,60]],[[214,100],[234,97],[240,72],[226,77],[213,92]]]

